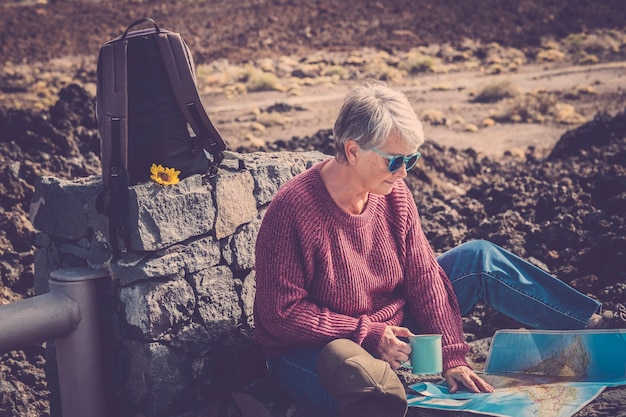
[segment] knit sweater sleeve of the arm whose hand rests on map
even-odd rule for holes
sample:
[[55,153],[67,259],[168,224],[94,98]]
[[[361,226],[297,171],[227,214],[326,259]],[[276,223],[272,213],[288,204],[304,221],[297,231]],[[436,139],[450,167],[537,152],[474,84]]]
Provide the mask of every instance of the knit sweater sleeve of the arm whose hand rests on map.
[[[410,192],[409,192],[410,196]],[[459,304],[445,271],[422,230],[417,208],[409,204],[406,236],[405,293],[410,311],[423,333],[442,335],[443,369],[469,366]]]

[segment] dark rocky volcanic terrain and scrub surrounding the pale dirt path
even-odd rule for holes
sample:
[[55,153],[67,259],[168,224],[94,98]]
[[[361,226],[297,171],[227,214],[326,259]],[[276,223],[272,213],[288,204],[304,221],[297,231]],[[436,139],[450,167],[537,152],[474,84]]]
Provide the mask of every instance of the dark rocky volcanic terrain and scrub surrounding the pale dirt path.
[[[206,96],[237,94],[240,101],[251,99],[253,94],[272,97],[280,88],[255,92],[249,84],[237,90],[228,87],[236,84],[228,79],[211,81],[211,74],[221,74],[214,62],[228,60],[231,72],[246,65],[262,68],[267,65],[266,59],[283,56],[299,56],[300,62],[309,65],[305,57],[323,50],[334,57],[334,61],[326,59],[326,70],[331,65],[347,68],[339,81],[325,78],[324,82],[341,85],[377,75],[364,62],[354,63],[358,55],[354,51],[368,47],[386,54],[381,61],[386,67],[378,78],[410,87],[420,77],[438,71],[436,65],[428,71],[402,68],[401,62],[406,62],[412,48],[418,46],[423,47],[423,55],[440,60],[436,61],[439,71],[443,72],[444,66],[446,71],[459,70],[455,65],[461,64],[468,70],[471,63],[476,63],[472,64],[474,70],[481,74],[515,72],[514,62],[518,62],[517,67],[554,63],[554,57],[542,60],[549,52],[562,54],[562,61],[556,60],[561,65],[619,64],[626,56],[622,35],[626,11],[620,1],[476,0],[452,7],[447,2],[426,0],[237,4],[219,0],[49,4],[2,0],[0,304],[34,295],[36,231],[28,210],[35,178],[79,178],[99,173],[94,55],[102,42],[144,15],[167,21],[169,29],[189,34],[185,39],[196,62],[207,71],[199,79]],[[591,35],[596,43],[590,41]],[[474,42],[470,46],[468,39]],[[546,39],[569,41],[547,44]],[[586,46],[574,48],[576,42]],[[490,55],[494,50],[498,59]],[[359,52],[359,56],[371,58],[373,55],[368,53],[372,54]],[[424,62],[423,57],[420,62]],[[314,70],[310,65],[298,69]],[[404,71],[404,75],[396,74],[394,69]],[[598,94],[593,89],[585,90],[587,94],[575,94],[575,113],[580,117],[569,123],[556,120],[560,114],[556,109],[563,109],[557,104],[563,104],[572,91],[550,96],[533,93],[517,98],[496,97],[499,104],[508,103],[509,110],[494,113],[492,121],[513,135],[529,126],[557,126],[562,133],[554,146],[551,143],[541,147],[533,142],[531,147],[518,146],[494,156],[476,150],[480,148],[476,136],[464,142],[470,145],[462,149],[429,141],[422,149],[423,160],[407,181],[435,251],[442,252],[469,239],[488,239],[531,259],[609,308],[623,302],[626,107],[619,79],[607,84],[608,88]],[[325,85],[317,84],[318,90],[325,89]],[[302,89],[309,87],[303,85]],[[584,87],[600,90],[600,85]],[[306,113],[281,103],[272,103],[273,111],[264,109],[265,113],[288,114],[292,119]],[[568,114],[572,115],[571,109]],[[434,112],[421,116],[428,123],[427,131],[447,129],[444,132],[448,134],[472,134],[468,123],[459,122],[462,129],[455,132],[450,117],[445,120]],[[482,128],[483,119],[473,123],[476,129]],[[259,128],[250,134],[251,122],[259,120],[218,117],[218,127],[224,124],[231,148],[239,152],[317,149],[332,153],[330,121],[318,121],[315,133],[301,136],[285,133],[284,128],[272,130],[271,123],[266,123],[267,129]],[[488,134],[487,129],[484,132]],[[263,139],[255,140],[258,136]],[[478,306],[465,319],[468,340],[479,341],[474,344],[472,356],[477,365],[485,355],[485,343],[480,340],[499,328],[517,326]],[[0,416],[50,414],[43,352],[42,346],[34,346],[0,357]],[[624,409],[626,390],[613,389],[578,415],[624,415]],[[297,408],[285,412],[306,414]]]

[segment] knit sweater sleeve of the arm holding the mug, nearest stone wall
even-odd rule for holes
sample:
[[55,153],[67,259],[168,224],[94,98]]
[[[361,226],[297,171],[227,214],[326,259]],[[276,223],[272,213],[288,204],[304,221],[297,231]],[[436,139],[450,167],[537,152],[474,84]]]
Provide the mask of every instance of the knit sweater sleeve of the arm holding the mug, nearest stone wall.
[[277,196],[257,236],[257,340],[267,350],[323,346],[336,338],[348,338],[372,352],[382,338],[386,323],[376,322],[367,315],[339,314],[310,301],[306,284],[314,266],[305,256],[309,248],[298,228],[296,206],[288,197]]

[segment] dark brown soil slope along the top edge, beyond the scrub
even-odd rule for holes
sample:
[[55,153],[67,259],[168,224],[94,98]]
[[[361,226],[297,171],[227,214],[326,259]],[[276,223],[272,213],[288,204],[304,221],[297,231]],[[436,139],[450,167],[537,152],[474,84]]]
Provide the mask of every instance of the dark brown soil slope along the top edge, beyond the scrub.
[[406,50],[464,39],[526,48],[544,37],[622,29],[626,21],[620,0],[58,0],[21,7],[27,3],[41,2],[0,1],[3,60],[93,55],[144,16],[184,33],[199,63],[362,47]]

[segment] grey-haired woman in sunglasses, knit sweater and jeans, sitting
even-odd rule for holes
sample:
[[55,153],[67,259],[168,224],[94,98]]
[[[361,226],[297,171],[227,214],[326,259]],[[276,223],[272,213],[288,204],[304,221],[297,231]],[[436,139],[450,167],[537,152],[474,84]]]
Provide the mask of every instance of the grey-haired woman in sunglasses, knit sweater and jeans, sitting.
[[350,91],[334,141],[334,158],[279,190],[257,238],[255,337],[294,397],[335,413],[316,373],[322,349],[349,339],[397,369],[413,332],[443,335],[451,392],[491,392],[465,360],[461,315],[479,299],[530,327],[606,325],[598,302],[488,242],[435,257],[402,181],[424,141],[402,93]]

